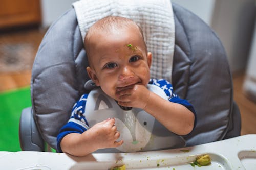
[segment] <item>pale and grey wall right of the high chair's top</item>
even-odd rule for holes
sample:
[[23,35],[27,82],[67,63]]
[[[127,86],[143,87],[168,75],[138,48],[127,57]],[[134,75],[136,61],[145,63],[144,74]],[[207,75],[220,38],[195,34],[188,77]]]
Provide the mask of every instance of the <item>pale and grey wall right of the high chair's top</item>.
[[172,0],[203,19],[219,36],[232,72],[247,66],[255,18],[254,0]]

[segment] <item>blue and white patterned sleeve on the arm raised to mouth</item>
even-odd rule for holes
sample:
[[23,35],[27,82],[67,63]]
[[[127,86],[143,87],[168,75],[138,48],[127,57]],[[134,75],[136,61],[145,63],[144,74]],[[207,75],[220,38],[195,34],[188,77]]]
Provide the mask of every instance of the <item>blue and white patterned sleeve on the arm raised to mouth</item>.
[[194,128],[195,128],[196,123],[197,123],[197,115],[196,115],[196,111],[195,111],[193,105],[191,105],[185,99],[180,99],[179,96],[174,93],[174,89],[173,89],[172,84],[170,84],[165,79],[151,79],[149,84],[154,84],[154,85],[160,87],[165,92],[165,94],[167,95],[168,101],[174,102],[174,103],[179,103],[179,104],[185,106],[191,112],[193,112],[194,115],[195,115],[195,122],[194,122]]

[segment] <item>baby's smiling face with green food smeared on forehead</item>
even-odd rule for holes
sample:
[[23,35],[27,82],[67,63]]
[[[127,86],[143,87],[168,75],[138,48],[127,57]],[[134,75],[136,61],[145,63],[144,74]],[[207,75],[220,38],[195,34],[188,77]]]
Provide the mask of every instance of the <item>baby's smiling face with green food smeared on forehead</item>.
[[101,33],[90,38],[91,67],[88,74],[97,86],[116,99],[116,92],[150,80],[151,53],[146,54],[136,27]]

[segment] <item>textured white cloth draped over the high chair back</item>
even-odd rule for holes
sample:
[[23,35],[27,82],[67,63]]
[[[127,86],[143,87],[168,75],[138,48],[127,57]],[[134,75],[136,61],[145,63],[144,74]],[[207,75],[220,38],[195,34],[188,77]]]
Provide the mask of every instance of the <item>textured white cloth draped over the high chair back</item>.
[[93,23],[105,16],[134,20],[152,52],[151,78],[172,82],[175,25],[170,0],[80,0],[73,7],[83,40]]

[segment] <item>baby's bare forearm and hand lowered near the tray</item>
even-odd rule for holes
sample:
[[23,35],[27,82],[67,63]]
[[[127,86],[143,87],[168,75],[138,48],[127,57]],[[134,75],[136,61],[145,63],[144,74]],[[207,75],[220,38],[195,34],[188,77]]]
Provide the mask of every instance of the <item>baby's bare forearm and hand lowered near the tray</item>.
[[98,149],[119,147],[123,141],[116,141],[117,131],[114,118],[95,124],[83,133],[69,133],[62,138],[60,147],[63,152],[74,156],[85,156]]

